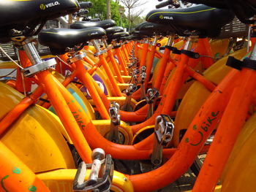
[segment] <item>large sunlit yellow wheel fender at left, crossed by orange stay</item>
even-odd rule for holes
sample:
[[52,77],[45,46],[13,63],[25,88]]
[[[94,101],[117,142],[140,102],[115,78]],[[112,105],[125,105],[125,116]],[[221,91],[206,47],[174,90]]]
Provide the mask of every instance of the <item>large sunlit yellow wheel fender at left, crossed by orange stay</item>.
[[[0,82],[0,119],[20,102],[23,95]],[[33,172],[75,167],[63,126],[53,113],[37,105],[29,107],[1,136],[4,143]]]

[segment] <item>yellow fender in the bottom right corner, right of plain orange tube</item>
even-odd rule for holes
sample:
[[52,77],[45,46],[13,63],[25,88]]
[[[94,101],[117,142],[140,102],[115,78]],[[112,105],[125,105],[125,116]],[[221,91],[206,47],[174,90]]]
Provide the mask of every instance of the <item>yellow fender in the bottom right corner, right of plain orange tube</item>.
[[256,114],[244,124],[236,140],[225,170],[222,173],[222,191],[255,191],[256,180]]

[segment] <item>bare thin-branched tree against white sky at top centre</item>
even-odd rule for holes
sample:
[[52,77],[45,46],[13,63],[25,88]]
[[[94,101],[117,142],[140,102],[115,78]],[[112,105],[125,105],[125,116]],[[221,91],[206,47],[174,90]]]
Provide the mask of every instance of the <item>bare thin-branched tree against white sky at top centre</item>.
[[[141,0],[119,0],[125,8],[127,8],[128,10],[128,28],[129,31],[131,30],[131,24],[132,24],[132,15],[137,15],[135,13],[132,13],[132,9],[136,8],[136,7],[140,7],[143,4],[146,4],[146,1],[141,1]],[[141,12],[140,12],[141,13]],[[138,16],[136,17],[138,18]]]

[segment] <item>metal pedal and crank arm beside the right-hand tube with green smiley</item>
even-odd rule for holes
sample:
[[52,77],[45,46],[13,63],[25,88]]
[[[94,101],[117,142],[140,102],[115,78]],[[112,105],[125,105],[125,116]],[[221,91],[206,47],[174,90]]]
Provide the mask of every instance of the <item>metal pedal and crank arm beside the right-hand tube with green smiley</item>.
[[154,128],[154,147],[151,163],[159,166],[162,163],[162,149],[173,138],[173,120],[168,115],[159,115]]

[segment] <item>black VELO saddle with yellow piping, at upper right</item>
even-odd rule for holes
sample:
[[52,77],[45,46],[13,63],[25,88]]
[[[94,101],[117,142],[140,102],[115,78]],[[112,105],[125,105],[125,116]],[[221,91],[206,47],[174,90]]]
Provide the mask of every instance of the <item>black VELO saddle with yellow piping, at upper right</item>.
[[181,9],[155,9],[146,15],[151,23],[161,23],[174,28],[180,36],[184,31],[198,31],[201,37],[217,37],[222,26],[233,20],[234,14],[228,9],[217,9],[196,5]]

